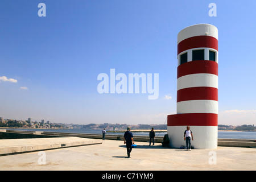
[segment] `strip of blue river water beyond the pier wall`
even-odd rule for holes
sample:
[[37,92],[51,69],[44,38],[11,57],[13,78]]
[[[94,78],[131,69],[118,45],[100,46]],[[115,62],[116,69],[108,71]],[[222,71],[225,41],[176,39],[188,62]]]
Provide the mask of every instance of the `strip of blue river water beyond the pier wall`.
[[[7,130],[24,130],[24,131],[51,131],[51,132],[63,132],[63,133],[89,133],[89,134],[101,134],[101,130],[94,129],[7,129]],[[111,135],[123,135],[124,133],[110,133],[106,130],[107,134]],[[156,132],[156,137],[163,137],[167,132]],[[147,132],[133,133],[134,136],[148,136]],[[183,134],[181,134],[183,135]],[[255,131],[218,131],[218,138],[232,138],[232,139],[255,139]]]

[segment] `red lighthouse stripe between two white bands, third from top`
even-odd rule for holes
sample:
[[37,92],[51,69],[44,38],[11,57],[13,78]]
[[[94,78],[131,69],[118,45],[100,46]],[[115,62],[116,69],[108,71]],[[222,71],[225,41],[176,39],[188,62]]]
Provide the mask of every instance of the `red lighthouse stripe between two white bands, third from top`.
[[177,102],[191,100],[218,101],[218,89],[213,87],[192,87],[177,90]]

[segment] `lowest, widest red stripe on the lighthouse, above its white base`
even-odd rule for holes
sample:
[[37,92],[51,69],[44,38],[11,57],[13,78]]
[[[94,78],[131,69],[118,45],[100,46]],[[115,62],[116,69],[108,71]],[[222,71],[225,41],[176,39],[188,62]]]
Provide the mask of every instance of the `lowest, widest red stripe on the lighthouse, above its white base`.
[[218,126],[218,114],[172,114],[167,117],[167,126]]

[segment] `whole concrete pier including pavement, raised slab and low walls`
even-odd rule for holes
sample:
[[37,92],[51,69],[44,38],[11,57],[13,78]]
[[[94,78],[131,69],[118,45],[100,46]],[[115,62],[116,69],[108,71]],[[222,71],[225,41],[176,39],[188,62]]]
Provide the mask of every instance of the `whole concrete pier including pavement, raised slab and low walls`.
[[[134,135],[137,148],[127,158],[122,135],[106,135],[102,140],[101,134],[1,131],[0,137],[13,138],[0,139],[0,170],[7,171],[254,171],[256,168],[254,140],[219,139],[217,149],[186,151],[162,147],[163,137],[156,138],[154,146],[148,146],[148,137]],[[45,164],[39,163],[41,151],[45,154]]]

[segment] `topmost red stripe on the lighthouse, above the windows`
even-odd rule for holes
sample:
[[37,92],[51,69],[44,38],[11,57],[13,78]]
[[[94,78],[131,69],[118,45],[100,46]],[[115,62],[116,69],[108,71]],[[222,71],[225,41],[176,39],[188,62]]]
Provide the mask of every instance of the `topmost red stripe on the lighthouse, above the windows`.
[[177,45],[177,55],[187,49],[208,47],[218,51],[218,40],[212,36],[193,36],[191,38],[182,40]]

